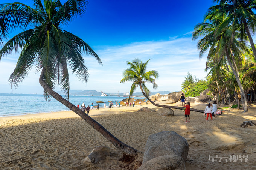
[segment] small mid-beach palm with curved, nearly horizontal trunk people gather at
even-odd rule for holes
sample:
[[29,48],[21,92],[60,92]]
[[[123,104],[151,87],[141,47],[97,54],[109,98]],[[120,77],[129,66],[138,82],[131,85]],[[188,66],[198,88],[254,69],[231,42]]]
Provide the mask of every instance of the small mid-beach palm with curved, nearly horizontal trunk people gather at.
[[[149,59],[151,60],[151,59]],[[132,62],[127,62],[127,64],[130,66],[130,68],[123,71],[123,78],[120,81],[120,83],[125,83],[126,81],[132,81],[131,90],[129,98],[133,95],[134,90],[139,86],[142,94],[150,101],[153,105],[157,107],[165,107],[165,108],[174,108],[174,109],[181,109],[182,107],[177,106],[167,106],[167,105],[160,105],[155,104],[149,97],[149,89],[145,86],[145,83],[153,83],[153,88],[157,88],[157,84],[155,83],[156,78],[158,78],[158,72],[155,70],[151,70],[146,72],[146,67],[148,65],[148,61],[145,63],[142,63],[139,59],[134,59]],[[153,78],[152,78],[153,77]],[[198,110],[194,108],[190,108],[191,111],[197,111],[204,113],[203,110]]]

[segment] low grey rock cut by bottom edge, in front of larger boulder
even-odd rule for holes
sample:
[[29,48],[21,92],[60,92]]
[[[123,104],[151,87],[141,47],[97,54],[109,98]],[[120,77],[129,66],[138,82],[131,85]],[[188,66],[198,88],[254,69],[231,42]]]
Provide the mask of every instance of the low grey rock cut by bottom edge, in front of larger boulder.
[[186,167],[180,156],[165,155],[143,163],[137,170],[186,170]]

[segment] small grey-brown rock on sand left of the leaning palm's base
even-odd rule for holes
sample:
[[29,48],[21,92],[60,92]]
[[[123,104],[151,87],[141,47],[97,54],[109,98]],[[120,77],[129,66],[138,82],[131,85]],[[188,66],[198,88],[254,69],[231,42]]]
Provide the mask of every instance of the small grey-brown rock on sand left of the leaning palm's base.
[[106,159],[110,156],[110,149],[107,146],[96,146],[93,151],[86,156],[84,161],[96,164],[98,161]]

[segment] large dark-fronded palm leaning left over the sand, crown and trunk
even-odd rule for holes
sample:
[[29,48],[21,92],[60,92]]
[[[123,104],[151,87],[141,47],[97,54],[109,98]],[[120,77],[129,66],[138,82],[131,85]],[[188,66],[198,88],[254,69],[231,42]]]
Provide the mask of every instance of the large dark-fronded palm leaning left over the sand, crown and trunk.
[[[122,143],[98,122],[53,91],[58,84],[62,91],[66,92],[66,98],[69,98],[68,66],[79,80],[87,83],[89,74],[84,65],[83,53],[93,56],[102,64],[88,44],[61,29],[74,17],[81,16],[86,6],[85,0],[67,0],[63,5],[59,0],[44,0],[44,6],[41,0],[34,0],[35,8],[18,2],[1,4],[0,20],[6,21],[6,26],[11,30],[25,31],[15,35],[3,46],[0,50],[0,59],[6,54],[21,50],[17,65],[9,78],[11,87],[17,88],[32,65],[35,65],[37,71],[41,71],[39,81],[44,88],[46,100],[55,98],[82,117],[125,155],[134,157],[140,153],[138,150]],[[30,29],[27,29],[28,26]]]

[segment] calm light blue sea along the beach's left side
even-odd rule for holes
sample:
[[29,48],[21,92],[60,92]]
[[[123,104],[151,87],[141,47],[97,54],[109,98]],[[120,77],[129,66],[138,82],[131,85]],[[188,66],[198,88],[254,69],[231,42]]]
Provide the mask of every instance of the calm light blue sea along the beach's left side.
[[[64,96],[63,96],[64,97]],[[118,96],[69,96],[69,102],[80,105],[82,103],[85,105],[90,105],[93,103],[93,106],[96,106],[96,101],[106,102],[108,107],[108,101],[113,101],[113,105],[116,102],[120,102],[127,97],[118,97]],[[144,98],[144,97],[143,97]],[[134,98],[138,99],[138,98]],[[99,107],[102,108],[104,103],[99,103]],[[5,116],[17,116],[24,114],[35,114],[35,113],[46,113],[54,111],[66,111],[69,110],[66,106],[58,102],[56,99],[46,101],[44,95],[36,94],[1,94],[0,93],[0,117]]]

